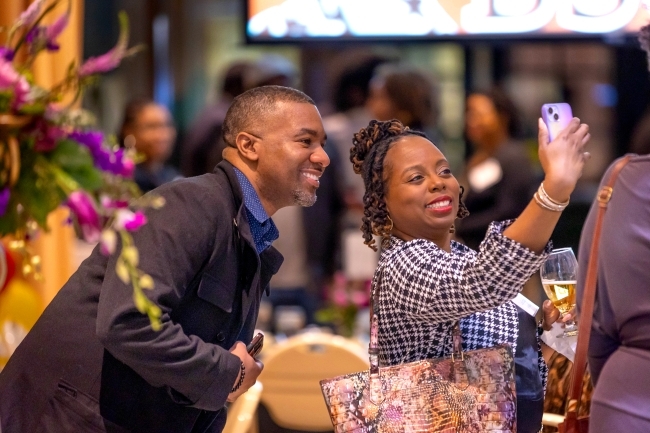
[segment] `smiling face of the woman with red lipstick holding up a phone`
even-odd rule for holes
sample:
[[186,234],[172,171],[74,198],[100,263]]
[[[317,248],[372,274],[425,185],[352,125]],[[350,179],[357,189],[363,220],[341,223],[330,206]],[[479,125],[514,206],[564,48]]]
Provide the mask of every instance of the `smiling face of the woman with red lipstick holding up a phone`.
[[409,135],[384,160],[386,205],[393,234],[409,241],[428,239],[440,246],[458,213],[458,181],[442,152],[429,140]]

